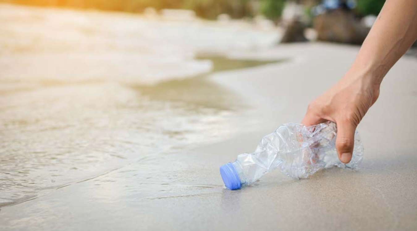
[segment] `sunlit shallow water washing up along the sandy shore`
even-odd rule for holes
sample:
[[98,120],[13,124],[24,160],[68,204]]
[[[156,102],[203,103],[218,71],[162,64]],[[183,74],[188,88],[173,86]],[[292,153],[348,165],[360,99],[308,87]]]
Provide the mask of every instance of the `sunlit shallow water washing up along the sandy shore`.
[[[146,194],[148,174],[171,171],[161,155],[236,132],[229,118],[243,104],[207,76],[275,62],[198,54],[275,38],[200,20],[0,5],[0,206],[127,165],[142,170],[135,182]],[[117,174],[100,181],[132,176]]]

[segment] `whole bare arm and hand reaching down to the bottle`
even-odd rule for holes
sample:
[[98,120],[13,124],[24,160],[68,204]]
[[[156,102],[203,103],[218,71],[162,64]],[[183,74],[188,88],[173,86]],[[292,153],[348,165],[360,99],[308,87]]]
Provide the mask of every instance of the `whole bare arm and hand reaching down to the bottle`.
[[342,162],[352,159],[356,127],[377,101],[382,79],[416,39],[417,0],[387,0],[349,71],[309,104],[301,123],[335,122]]

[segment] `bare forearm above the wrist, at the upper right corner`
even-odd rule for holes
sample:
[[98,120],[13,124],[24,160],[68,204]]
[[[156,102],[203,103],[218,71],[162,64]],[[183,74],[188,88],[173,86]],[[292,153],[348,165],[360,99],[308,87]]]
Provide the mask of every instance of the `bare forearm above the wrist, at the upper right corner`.
[[417,39],[417,1],[387,0],[352,66],[380,83]]

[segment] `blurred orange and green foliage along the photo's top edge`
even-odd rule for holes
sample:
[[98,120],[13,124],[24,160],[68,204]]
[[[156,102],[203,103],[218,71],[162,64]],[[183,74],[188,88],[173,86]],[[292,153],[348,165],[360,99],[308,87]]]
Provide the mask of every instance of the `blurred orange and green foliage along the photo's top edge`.
[[[309,5],[308,7],[321,2],[321,0],[294,1]],[[278,20],[286,0],[0,0],[0,2],[126,12],[143,12],[147,7],[153,7],[156,10],[189,9],[206,19],[216,19],[220,14],[228,14],[232,18],[262,14],[271,20]],[[385,0],[357,0],[356,2],[356,11],[360,15],[377,15]]]

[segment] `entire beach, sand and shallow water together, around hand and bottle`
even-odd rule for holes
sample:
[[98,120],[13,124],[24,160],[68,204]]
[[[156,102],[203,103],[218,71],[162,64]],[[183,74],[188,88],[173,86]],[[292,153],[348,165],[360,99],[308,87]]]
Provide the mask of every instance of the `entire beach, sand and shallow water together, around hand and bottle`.
[[[389,71],[358,127],[359,170],[331,168],[303,180],[275,171],[230,191],[219,167],[253,152],[279,125],[299,123],[308,103],[349,69],[358,46],[276,45],[278,32],[214,22],[176,22],[188,30],[175,37],[172,22],[132,15],[2,7],[22,12],[13,15],[24,22],[0,29],[16,36],[3,41],[0,56],[0,230],[417,229],[415,57]],[[50,31],[30,40],[16,29],[28,15],[53,14],[119,19],[124,32],[142,31],[140,23],[165,29],[134,37],[140,46],[132,34],[98,41],[91,33],[100,30],[91,28],[75,42],[65,29],[70,36],[54,46],[45,39]],[[196,36],[198,28],[212,30]],[[236,42],[238,32],[246,37]],[[171,40],[147,47],[154,38]]]

